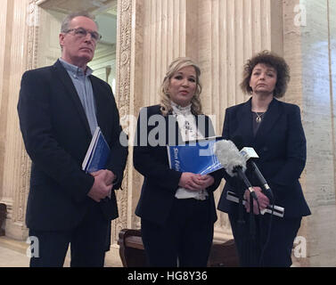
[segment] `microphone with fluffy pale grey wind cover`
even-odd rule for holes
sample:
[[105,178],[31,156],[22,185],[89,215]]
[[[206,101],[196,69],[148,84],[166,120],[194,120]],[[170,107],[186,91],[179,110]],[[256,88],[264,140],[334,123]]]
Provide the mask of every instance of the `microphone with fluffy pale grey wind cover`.
[[249,189],[250,194],[256,200],[258,200],[257,195],[250,183],[249,179],[245,175],[246,170],[246,160],[239,153],[234,142],[227,140],[220,140],[216,142],[215,154],[220,164],[225,168],[226,172],[230,176],[238,175],[242,179],[245,186]]

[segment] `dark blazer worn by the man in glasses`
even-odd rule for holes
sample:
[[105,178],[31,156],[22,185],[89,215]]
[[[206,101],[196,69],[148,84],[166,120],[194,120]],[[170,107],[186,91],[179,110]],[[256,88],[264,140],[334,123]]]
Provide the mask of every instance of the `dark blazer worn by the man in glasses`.
[[[119,143],[119,111],[111,87],[90,76],[98,126],[111,147],[106,169],[118,177],[119,189],[127,147]],[[94,177],[81,170],[92,134],[71,78],[60,61],[26,71],[18,103],[20,130],[32,160],[26,224],[39,231],[65,231],[77,226],[93,199],[87,196]],[[100,202],[104,216],[118,217],[114,191]]]

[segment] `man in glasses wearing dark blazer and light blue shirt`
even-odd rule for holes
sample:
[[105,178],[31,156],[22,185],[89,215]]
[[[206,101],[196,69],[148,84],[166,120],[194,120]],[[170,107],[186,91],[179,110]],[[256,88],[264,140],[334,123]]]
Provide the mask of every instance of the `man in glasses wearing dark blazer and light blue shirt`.
[[[32,160],[26,223],[38,240],[30,266],[103,266],[111,220],[127,162],[127,147],[111,86],[91,75],[100,35],[86,12],[70,14],[60,34],[61,58],[22,76],[20,129]],[[111,148],[106,169],[81,169],[95,128]]]

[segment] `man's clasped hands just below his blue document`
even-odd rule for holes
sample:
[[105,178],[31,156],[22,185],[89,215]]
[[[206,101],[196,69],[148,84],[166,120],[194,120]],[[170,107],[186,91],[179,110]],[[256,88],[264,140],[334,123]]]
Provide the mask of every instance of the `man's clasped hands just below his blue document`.
[[94,176],[94,185],[87,193],[87,196],[96,202],[100,202],[101,199],[110,196],[115,175],[107,169],[93,172],[91,175]]

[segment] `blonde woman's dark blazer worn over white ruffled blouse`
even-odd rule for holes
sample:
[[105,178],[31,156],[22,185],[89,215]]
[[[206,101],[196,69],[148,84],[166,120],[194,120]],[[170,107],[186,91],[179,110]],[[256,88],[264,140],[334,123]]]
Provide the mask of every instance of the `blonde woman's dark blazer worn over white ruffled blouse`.
[[[155,129],[159,126],[158,122],[156,122],[157,124],[155,125],[149,122],[152,116],[158,116],[156,119],[160,118],[161,122],[163,122],[165,129],[165,134],[163,135],[166,135],[163,145],[151,146],[147,144],[141,146],[139,144],[146,144],[145,141],[147,140],[148,134],[155,133]],[[196,123],[199,131],[205,137],[215,134],[209,117],[199,115],[196,118]],[[143,136],[140,137],[140,134]],[[162,138],[162,133],[160,133],[160,135]],[[156,139],[159,139],[159,134],[156,135]],[[155,224],[162,225],[168,219],[182,175],[182,172],[170,169],[168,164],[166,144],[176,145],[178,142],[182,142],[182,138],[175,116],[161,116],[160,105],[143,108],[140,111],[135,134],[133,162],[135,169],[143,175],[144,181],[135,214]],[[217,189],[222,175],[220,173],[218,175],[218,172],[210,175],[214,176],[215,183],[208,188],[211,205],[209,211],[211,220],[215,222],[217,220],[217,214],[213,191]]]

